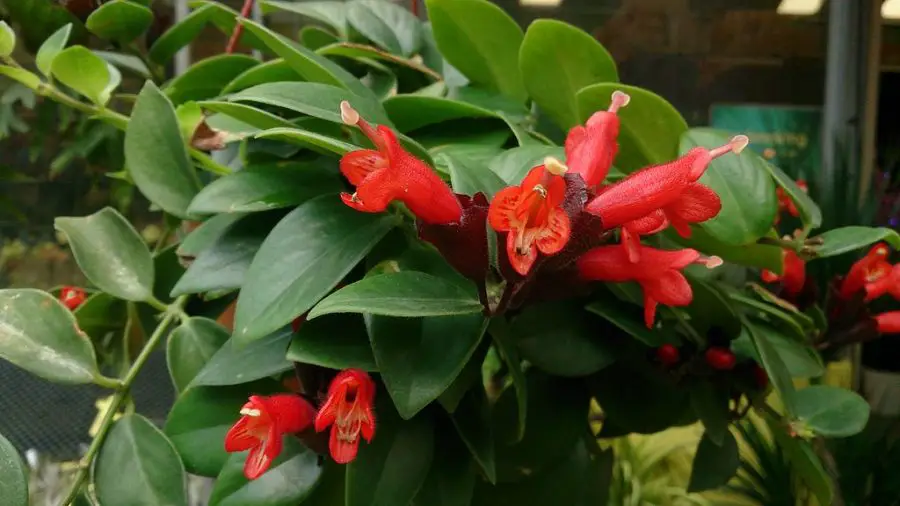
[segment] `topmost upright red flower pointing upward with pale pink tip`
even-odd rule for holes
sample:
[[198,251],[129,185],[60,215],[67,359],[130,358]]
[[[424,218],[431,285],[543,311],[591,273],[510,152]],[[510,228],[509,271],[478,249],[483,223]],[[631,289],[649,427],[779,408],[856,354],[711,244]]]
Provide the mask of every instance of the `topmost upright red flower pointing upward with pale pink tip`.
[[616,113],[630,100],[627,94],[614,91],[609,109],[595,112],[584,126],[573,127],[566,136],[566,163],[573,174],[581,175],[588,188],[595,188],[609,173],[619,151]]

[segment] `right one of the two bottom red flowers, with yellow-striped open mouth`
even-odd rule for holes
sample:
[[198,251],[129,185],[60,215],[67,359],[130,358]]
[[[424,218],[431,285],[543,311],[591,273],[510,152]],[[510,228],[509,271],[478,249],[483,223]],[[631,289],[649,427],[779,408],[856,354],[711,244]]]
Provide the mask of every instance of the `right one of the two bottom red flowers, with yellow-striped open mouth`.
[[338,464],[356,458],[360,434],[367,442],[375,437],[374,402],[375,382],[359,369],[345,369],[331,381],[325,404],[316,415],[316,432],[333,425],[328,449]]

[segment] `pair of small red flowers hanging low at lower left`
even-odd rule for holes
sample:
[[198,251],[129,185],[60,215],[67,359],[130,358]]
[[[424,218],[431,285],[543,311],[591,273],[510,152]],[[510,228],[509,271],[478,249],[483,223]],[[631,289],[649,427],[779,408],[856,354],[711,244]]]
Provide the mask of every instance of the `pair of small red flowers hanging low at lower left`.
[[281,453],[283,436],[314,427],[322,432],[331,427],[328,449],[339,464],[356,458],[360,435],[375,437],[375,382],[359,369],[346,369],[331,381],[325,402],[318,412],[306,398],[295,394],[252,396],[241,408],[241,418],[225,436],[225,450],[250,450],[244,475],[262,476]]

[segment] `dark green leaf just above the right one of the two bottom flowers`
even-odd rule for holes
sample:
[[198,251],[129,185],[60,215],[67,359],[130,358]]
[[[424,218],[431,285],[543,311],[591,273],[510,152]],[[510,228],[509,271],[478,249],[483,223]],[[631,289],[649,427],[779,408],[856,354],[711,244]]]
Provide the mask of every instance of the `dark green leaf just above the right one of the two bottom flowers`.
[[331,369],[378,369],[359,315],[330,315],[304,322],[291,340],[287,358]]

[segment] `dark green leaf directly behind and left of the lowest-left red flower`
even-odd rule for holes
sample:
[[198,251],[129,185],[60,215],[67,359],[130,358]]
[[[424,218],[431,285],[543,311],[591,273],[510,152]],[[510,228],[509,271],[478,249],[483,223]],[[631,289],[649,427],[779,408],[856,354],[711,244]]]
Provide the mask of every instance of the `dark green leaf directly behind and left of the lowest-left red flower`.
[[266,395],[278,387],[274,382],[192,387],[178,396],[164,430],[187,471],[200,476],[218,475],[228,460],[223,444],[225,434],[240,418],[241,406],[249,396]]

